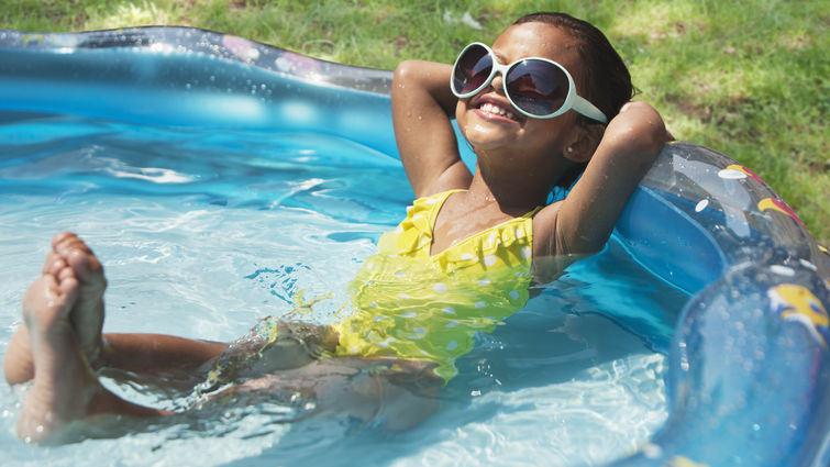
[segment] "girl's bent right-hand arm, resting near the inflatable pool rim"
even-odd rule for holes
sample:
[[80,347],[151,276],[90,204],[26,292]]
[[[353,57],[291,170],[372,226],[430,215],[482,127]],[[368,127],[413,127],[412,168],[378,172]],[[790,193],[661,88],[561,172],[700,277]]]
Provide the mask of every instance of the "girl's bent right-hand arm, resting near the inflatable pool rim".
[[[629,102],[605,130],[585,174],[568,196],[540,214],[542,253],[596,253],[611,235],[637,185],[671,135],[645,102]],[[545,222],[547,221],[547,222]]]

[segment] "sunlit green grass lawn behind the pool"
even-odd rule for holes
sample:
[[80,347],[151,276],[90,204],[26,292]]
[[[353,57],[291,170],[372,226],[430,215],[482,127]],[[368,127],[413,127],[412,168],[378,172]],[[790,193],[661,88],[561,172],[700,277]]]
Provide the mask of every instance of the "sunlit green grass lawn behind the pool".
[[[33,32],[150,24],[232,33],[314,57],[391,69],[451,62],[521,14],[566,11],[596,24],[629,63],[640,99],[678,140],[738,159],[830,245],[830,9],[815,0],[19,0],[0,24]],[[461,22],[469,12],[482,29]],[[447,21],[449,20],[449,21]]]

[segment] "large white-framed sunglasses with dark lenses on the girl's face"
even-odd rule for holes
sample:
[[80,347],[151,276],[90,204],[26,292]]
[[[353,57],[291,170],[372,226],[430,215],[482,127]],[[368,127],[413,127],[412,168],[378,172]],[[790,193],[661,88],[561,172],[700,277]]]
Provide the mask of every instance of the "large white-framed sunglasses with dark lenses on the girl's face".
[[501,65],[490,47],[480,42],[461,51],[453,65],[450,87],[458,99],[468,98],[489,86],[497,73],[503,79],[505,96],[524,115],[552,119],[574,109],[589,119],[608,122],[599,109],[577,96],[574,78],[562,65],[539,57]]

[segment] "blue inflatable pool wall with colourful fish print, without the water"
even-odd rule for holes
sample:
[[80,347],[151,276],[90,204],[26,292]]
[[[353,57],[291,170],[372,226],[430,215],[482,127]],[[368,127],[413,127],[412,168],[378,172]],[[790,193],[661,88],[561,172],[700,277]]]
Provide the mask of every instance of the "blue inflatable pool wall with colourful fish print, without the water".
[[[313,131],[397,157],[390,81],[192,29],[0,31],[0,111]],[[615,465],[830,465],[830,257],[784,201],[729,157],[674,143],[613,236],[689,297],[666,351],[667,421]]]

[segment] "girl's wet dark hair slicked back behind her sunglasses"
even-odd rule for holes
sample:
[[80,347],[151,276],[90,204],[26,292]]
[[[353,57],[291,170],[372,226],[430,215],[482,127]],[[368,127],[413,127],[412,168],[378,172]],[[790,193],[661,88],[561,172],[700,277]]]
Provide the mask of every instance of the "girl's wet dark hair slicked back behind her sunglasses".
[[[579,96],[599,108],[610,121],[620,112],[622,105],[634,96],[626,63],[613,49],[608,38],[596,26],[566,13],[539,12],[525,14],[516,24],[545,23],[571,34],[577,41],[577,53],[583,63]],[[579,115],[579,123],[596,123],[587,116]],[[569,188],[587,164],[575,164],[560,180],[556,187]]]

